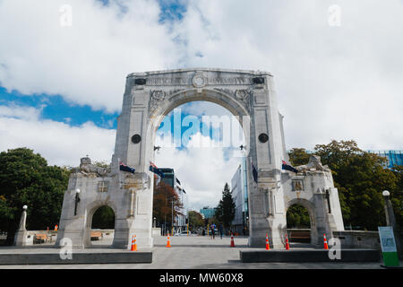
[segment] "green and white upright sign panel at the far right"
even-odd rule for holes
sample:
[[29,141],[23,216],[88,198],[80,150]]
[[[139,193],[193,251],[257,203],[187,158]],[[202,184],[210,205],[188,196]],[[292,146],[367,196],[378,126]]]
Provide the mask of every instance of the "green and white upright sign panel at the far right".
[[399,266],[398,249],[391,226],[378,226],[381,240],[383,263],[385,266]]

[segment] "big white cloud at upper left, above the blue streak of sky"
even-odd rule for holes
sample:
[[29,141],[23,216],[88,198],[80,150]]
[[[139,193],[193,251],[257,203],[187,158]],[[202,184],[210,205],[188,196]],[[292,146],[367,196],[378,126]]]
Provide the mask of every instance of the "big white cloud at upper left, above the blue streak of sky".
[[[72,8],[72,26],[60,25],[64,4]],[[119,110],[127,74],[176,62],[159,13],[156,0],[0,1],[0,84]]]

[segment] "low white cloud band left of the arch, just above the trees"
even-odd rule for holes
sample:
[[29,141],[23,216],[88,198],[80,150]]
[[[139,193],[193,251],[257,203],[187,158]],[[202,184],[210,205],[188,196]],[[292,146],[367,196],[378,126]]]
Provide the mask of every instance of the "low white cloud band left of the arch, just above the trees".
[[40,110],[0,106],[0,151],[27,147],[40,153],[50,165],[79,166],[81,157],[109,162],[114,151],[116,130],[87,122],[68,126],[40,119]]

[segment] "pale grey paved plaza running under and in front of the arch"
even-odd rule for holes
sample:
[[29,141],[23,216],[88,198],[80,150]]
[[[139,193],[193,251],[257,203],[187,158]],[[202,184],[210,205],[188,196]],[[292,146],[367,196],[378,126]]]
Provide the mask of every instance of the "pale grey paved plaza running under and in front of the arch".
[[[166,248],[167,238],[156,237],[153,248],[141,248],[139,251],[152,250],[151,264],[99,264],[99,265],[0,265],[2,269],[35,268],[35,269],[382,269],[379,263],[242,263],[239,257],[240,250],[261,250],[248,248],[247,238],[236,237],[235,248],[230,247],[230,238],[211,239],[207,236],[173,236],[170,237],[171,248]],[[104,246],[111,241],[93,241],[91,252],[116,252],[116,249]],[[291,244],[291,248],[306,248],[298,244]],[[89,249],[73,250],[86,252]],[[264,249],[264,248],[262,248]],[[24,252],[58,252],[50,245],[23,248]],[[122,251],[119,249],[118,251]],[[0,253],[21,252],[21,248],[0,248]],[[127,251],[135,252],[135,251]],[[269,251],[270,252],[270,251]]]

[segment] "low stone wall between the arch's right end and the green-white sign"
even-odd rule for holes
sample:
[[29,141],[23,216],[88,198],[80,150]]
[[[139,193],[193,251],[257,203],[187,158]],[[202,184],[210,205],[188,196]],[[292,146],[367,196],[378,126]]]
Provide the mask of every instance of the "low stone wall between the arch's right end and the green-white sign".
[[333,237],[340,239],[341,248],[371,248],[381,250],[378,231],[333,231]]

